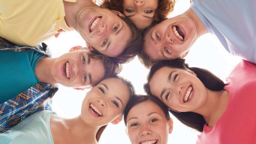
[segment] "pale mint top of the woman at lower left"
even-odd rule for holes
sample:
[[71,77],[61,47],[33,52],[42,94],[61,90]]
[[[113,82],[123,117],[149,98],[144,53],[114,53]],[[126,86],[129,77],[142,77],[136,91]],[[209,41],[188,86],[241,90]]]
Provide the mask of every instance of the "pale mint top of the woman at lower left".
[[33,113],[15,127],[0,134],[0,144],[54,144],[50,118],[53,111],[43,110]]

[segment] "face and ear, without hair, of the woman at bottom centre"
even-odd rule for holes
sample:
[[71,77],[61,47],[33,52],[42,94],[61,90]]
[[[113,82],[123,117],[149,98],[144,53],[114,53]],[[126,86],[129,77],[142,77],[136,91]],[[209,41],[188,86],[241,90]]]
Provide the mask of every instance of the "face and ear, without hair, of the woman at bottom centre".
[[132,144],[167,144],[172,127],[172,120],[167,120],[161,108],[149,100],[132,107],[127,115],[127,134]]

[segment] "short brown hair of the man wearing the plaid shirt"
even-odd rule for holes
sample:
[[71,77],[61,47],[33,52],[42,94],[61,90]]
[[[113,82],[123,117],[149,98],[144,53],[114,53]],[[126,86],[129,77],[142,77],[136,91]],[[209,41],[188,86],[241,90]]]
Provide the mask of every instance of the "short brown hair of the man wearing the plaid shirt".
[[[81,50],[88,50],[88,48],[83,47]],[[108,58],[108,57],[106,57],[102,54],[97,54],[93,51],[89,51],[88,56],[90,58],[98,59],[98,60],[101,60],[103,62],[103,66],[104,66],[104,69],[105,69],[105,74],[104,74],[104,77],[102,79],[115,76],[115,75],[119,74],[123,69],[123,66],[121,64],[113,61],[111,58]]]

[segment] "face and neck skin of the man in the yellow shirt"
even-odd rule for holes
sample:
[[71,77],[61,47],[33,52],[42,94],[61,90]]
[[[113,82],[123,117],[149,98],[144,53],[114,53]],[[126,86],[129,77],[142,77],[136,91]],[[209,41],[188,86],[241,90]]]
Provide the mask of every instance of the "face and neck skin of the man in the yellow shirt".
[[[94,47],[109,57],[117,57],[124,51],[132,34],[128,25],[117,16],[124,16],[123,14],[100,8],[91,0],[77,0],[76,3],[63,1],[63,3],[67,25],[82,36],[89,50]],[[99,18],[99,21],[93,30],[90,30],[96,18]],[[122,39],[122,43],[118,39]]]

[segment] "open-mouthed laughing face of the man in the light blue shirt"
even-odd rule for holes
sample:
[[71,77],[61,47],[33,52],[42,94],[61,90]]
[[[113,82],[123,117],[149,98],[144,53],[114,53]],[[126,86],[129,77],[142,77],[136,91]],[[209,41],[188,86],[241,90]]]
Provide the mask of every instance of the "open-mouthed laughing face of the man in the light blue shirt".
[[193,19],[179,15],[151,28],[143,48],[152,61],[183,58],[198,37]]

